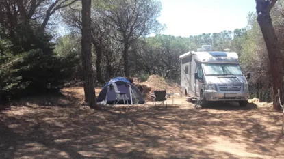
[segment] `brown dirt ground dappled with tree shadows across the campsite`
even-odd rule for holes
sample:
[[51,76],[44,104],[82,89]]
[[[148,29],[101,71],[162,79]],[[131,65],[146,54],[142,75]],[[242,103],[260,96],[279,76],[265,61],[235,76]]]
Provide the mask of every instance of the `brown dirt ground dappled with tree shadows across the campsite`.
[[0,111],[0,158],[284,158],[281,113],[267,104],[96,111],[79,105],[83,89],[62,93]]

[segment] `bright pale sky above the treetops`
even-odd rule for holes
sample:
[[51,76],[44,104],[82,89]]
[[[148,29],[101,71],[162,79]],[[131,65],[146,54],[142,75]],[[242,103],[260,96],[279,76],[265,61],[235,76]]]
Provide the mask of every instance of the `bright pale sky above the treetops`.
[[183,37],[246,27],[248,12],[256,12],[255,0],[159,1],[158,20],[166,25],[162,33]]

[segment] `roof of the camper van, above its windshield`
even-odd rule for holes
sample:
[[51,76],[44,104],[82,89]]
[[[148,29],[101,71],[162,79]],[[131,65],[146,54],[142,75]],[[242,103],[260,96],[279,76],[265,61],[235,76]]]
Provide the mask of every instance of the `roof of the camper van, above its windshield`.
[[185,57],[194,56],[196,61],[201,63],[238,63],[238,56],[235,52],[222,52],[222,51],[208,51],[208,52],[194,52],[190,51],[179,56],[180,59]]

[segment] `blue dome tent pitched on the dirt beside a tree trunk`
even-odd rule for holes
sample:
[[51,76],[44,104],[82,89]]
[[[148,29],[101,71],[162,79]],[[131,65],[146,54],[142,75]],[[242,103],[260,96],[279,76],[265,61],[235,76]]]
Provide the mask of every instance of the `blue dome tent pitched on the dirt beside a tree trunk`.
[[[118,91],[120,93],[127,93],[127,97],[129,98],[129,103],[131,103],[131,98],[133,104],[144,104],[144,98],[142,93],[139,91],[137,87],[135,87],[130,81],[123,77],[112,78],[109,82],[103,86],[99,96],[96,99],[96,102],[106,102],[106,104],[114,104],[116,101],[116,93],[112,88],[112,83],[115,83],[118,87]],[[130,87],[129,87],[130,86]],[[132,94],[130,94],[132,92]],[[131,97],[131,98],[130,98]],[[107,99],[105,99],[107,98]],[[123,104],[123,100],[118,102],[118,104]]]

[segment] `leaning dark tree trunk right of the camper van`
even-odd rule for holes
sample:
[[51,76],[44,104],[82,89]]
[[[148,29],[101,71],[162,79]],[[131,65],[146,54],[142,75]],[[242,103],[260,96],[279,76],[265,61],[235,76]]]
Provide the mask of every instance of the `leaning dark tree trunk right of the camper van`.
[[280,110],[281,106],[277,98],[277,89],[281,89],[283,84],[283,58],[280,52],[278,39],[272,25],[272,20],[269,12],[262,12],[257,16],[257,22],[263,34],[266,48],[268,50],[268,58],[270,60],[270,70],[272,74],[273,87],[273,108]]

